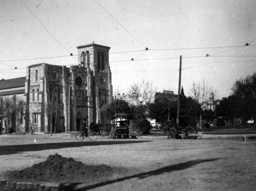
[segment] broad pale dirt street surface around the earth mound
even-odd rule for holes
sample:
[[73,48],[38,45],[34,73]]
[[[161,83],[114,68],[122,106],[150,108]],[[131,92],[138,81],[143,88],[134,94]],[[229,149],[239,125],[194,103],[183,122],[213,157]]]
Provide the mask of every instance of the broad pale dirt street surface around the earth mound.
[[[35,142],[36,140],[36,142]],[[0,176],[58,153],[84,164],[127,169],[110,180],[76,184],[82,190],[256,190],[256,141],[52,139],[0,136]]]

